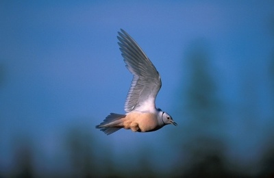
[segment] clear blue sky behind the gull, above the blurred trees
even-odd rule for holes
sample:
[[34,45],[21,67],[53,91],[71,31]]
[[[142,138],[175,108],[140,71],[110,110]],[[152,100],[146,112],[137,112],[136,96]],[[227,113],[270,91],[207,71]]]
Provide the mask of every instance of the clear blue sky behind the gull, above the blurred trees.
[[[110,112],[124,113],[132,75],[117,44],[121,28],[160,72],[156,105],[177,127],[110,136],[95,129]],[[197,40],[206,42],[210,72],[227,108],[227,155],[256,162],[256,145],[273,124],[273,31],[273,1],[1,1],[0,170],[12,167],[14,140],[21,137],[35,143],[37,162],[39,156],[53,162],[51,157],[62,152],[60,140],[75,125],[92,130],[98,155],[101,147],[112,147],[114,157],[126,151],[134,159],[136,151],[147,148],[155,162],[174,164],[172,131],[186,134],[189,122],[177,112],[184,103],[178,95],[188,81],[186,53]],[[239,116],[250,108],[255,119]],[[249,121],[256,129],[249,130]]]

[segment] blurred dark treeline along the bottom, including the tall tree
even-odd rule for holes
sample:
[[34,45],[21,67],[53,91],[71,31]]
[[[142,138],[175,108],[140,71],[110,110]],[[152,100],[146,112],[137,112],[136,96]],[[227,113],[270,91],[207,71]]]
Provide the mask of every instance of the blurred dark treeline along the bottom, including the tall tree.
[[[272,123],[262,131],[264,140],[260,142],[262,153],[258,154],[258,164],[240,166],[227,157],[227,148],[229,144],[233,144],[234,139],[228,138],[225,131],[229,115],[227,116],[225,97],[219,92],[219,82],[214,76],[217,73],[214,72],[209,51],[204,42],[195,42],[185,56],[184,68],[188,68],[188,71],[184,73],[182,88],[178,88],[176,94],[182,102],[173,111],[173,117],[184,116],[186,123],[182,126],[184,129],[173,129],[174,131],[168,134],[173,139],[167,139],[170,142],[166,144],[171,144],[171,147],[177,147],[179,150],[172,167],[156,171],[151,165],[153,161],[149,160],[149,151],[140,148],[140,152],[136,153],[139,155],[138,164],[131,170],[123,170],[119,165],[120,160],[115,160],[117,157],[114,156],[112,147],[103,147],[104,145],[92,135],[93,128],[75,126],[68,128],[66,136],[60,140],[66,157],[62,158],[62,162],[55,163],[58,168],[54,171],[37,168],[36,157],[39,153],[36,153],[35,142],[32,142],[31,138],[20,136],[14,139],[16,144],[13,164],[10,170],[0,173],[0,177],[274,177],[274,119],[269,119],[273,120]],[[266,77],[269,81],[273,94],[269,97],[273,106],[274,53],[269,61],[268,76],[261,77]],[[1,85],[5,78],[1,66],[0,74]],[[242,89],[242,97],[246,97],[247,102],[239,109],[240,112],[235,110],[239,119],[245,122],[246,128],[242,128],[242,131],[251,133],[248,138],[250,140],[257,132],[254,120],[261,119],[260,114],[256,112],[258,103],[255,102],[258,101],[256,97],[259,95],[256,94],[257,87],[256,80],[247,77]],[[274,118],[274,111],[270,117]],[[237,139],[237,135],[234,138]],[[102,147],[105,154],[98,155],[95,147]]]

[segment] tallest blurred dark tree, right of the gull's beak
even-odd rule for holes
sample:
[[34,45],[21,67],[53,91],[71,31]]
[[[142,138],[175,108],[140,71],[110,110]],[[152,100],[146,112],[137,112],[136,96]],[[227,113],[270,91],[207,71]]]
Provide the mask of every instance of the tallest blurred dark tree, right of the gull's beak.
[[225,177],[222,103],[216,92],[210,55],[206,44],[192,44],[186,56],[186,90],[180,115],[186,116],[182,131],[182,155],[179,159],[182,177]]

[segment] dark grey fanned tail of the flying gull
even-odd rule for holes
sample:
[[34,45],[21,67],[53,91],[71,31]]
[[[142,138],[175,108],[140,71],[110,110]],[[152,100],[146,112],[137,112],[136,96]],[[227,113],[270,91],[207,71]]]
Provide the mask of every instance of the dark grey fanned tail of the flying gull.
[[95,128],[100,129],[107,135],[110,135],[114,131],[118,131],[123,128],[121,118],[125,118],[125,114],[110,113],[110,115],[103,120],[103,123],[97,125]]

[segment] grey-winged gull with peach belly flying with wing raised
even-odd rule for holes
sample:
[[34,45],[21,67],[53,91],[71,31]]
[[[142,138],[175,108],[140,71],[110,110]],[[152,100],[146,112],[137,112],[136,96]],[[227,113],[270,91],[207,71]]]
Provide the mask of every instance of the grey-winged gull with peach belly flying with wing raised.
[[110,113],[96,128],[110,135],[122,128],[148,132],[164,125],[177,125],[169,114],[155,107],[155,99],[162,86],[155,66],[127,32],[121,29],[118,34],[126,67],[133,74],[132,86],[125,101],[126,114]]

